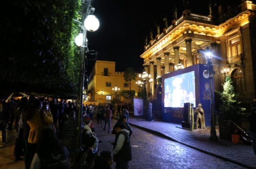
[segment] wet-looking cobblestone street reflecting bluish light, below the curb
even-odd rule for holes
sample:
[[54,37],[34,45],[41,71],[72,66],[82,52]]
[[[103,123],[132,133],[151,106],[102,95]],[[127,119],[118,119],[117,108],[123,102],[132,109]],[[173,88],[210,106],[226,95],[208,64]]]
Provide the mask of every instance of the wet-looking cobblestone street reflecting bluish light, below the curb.
[[[102,130],[100,124],[94,122],[97,136],[104,141],[99,144],[99,150],[111,151],[115,136]],[[113,127],[116,121],[112,120]],[[132,127],[131,136],[132,161],[129,169],[241,169],[243,167],[231,162],[226,162],[214,156],[202,153],[180,143],[150,134]],[[112,168],[115,168],[115,163]]]

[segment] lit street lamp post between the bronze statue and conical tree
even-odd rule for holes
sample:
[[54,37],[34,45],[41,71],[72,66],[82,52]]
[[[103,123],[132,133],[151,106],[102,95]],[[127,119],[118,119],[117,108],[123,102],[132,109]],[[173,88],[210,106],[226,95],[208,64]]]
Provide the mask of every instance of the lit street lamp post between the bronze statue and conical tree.
[[205,53],[204,57],[207,60],[207,65],[208,65],[208,73],[209,73],[209,78],[210,78],[210,98],[211,98],[211,135],[210,135],[210,140],[211,141],[218,141],[218,137],[216,134],[216,129],[215,129],[215,112],[213,109],[213,98],[212,98],[212,77],[215,74],[213,71],[213,65],[212,65],[212,56],[213,54],[211,52]]

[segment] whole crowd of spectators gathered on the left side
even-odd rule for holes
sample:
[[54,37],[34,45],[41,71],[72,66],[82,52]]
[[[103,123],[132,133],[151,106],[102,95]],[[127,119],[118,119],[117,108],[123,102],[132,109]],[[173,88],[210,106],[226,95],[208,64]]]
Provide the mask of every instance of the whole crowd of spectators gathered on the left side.
[[[116,134],[113,156],[109,151],[98,151],[97,136],[91,119],[97,118],[103,130],[111,131],[113,105],[83,105],[82,148],[76,153],[76,104],[56,98],[45,99],[34,96],[0,100],[0,131],[2,144],[6,144],[6,129],[12,130],[13,122],[17,131],[15,160],[23,160],[26,169],[39,168],[111,168],[113,160],[117,169],[128,168],[132,159],[130,136],[132,128],[128,124],[128,104],[117,105],[120,116],[112,133]],[[122,114],[121,114],[122,111]],[[117,114],[117,115],[118,115]],[[79,155],[77,155],[79,154]],[[22,158],[24,156],[24,158]],[[85,166],[86,165],[86,166]]]

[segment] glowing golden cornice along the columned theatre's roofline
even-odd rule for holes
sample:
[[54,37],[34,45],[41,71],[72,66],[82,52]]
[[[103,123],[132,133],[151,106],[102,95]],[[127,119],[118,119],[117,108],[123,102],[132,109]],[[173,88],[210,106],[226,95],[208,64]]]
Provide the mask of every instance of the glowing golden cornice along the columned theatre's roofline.
[[[204,17],[202,15],[198,16]],[[163,50],[168,45],[178,40],[183,35],[189,33],[193,35],[197,34],[207,37],[219,38],[226,33],[230,26],[244,26],[245,24],[248,24],[250,17],[255,17],[254,11],[246,10],[237,14],[236,17],[226,20],[219,26],[210,24],[210,22],[205,22],[204,20],[201,20],[202,22],[195,22],[193,20],[184,20],[184,18],[179,18],[180,20],[175,27],[171,25],[167,29],[165,29],[165,31],[169,30],[169,32],[167,32],[165,35],[163,35],[164,33],[160,34],[159,40],[154,39],[150,41],[152,45],[147,46],[147,50],[145,50],[140,55],[140,57],[143,58],[145,61],[157,54],[159,51]],[[193,37],[189,38],[193,39]]]

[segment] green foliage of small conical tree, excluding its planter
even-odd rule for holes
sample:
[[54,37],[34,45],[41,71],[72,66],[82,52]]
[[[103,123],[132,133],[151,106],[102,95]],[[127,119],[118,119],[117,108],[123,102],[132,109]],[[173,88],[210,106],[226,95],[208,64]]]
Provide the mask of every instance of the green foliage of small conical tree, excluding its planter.
[[237,94],[234,92],[234,86],[229,76],[226,77],[223,84],[223,92],[215,91],[221,98],[220,105],[221,118],[238,122],[243,115],[245,108],[240,107],[240,101],[237,101]]

